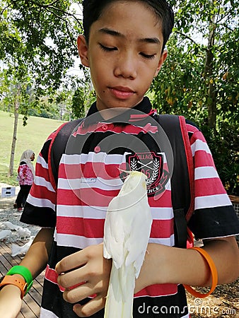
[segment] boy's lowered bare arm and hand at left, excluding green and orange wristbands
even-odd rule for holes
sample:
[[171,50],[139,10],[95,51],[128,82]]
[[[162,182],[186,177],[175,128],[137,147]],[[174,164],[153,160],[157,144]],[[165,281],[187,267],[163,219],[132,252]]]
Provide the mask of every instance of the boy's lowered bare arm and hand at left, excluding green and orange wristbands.
[[[48,255],[52,246],[54,229],[42,228],[33,240],[30,249],[23,261],[22,266],[27,267],[37,277],[47,266]],[[18,275],[16,275],[18,276]],[[0,290],[0,317],[13,318],[21,310],[21,290],[15,285],[6,285]]]

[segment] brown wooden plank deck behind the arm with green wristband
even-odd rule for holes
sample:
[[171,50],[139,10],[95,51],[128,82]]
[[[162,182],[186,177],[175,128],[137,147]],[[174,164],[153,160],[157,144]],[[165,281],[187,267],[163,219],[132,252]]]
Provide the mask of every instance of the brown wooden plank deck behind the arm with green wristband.
[[[25,242],[16,242],[23,245]],[[23,255],[11,256],[11,243],[0,242],[0,277],[4,276],[12,266],[18,265]],[[35,318],[40,316],[40,303],[42,298],[42,285],[44,273],[41,273],[33,282],[33,287],[23,298],[21,313],[17,318]]]

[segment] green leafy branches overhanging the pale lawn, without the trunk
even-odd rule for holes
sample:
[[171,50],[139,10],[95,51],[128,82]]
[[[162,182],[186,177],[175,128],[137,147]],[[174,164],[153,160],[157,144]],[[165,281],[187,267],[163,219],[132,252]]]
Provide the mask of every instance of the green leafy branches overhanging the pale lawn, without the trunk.
[[[28,65],[37,86],[56,90],[77,56],[81,21],[73,1],[2,0],[0,59]],[[19,76],[21,77],[20,73]]]

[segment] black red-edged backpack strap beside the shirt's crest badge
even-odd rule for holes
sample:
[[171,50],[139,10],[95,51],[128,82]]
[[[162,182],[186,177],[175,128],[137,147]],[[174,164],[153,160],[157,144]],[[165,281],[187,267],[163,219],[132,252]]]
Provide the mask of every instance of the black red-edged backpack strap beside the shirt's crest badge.
[[173,150],[171,195],[175,219],[175,246],[187,247],[187,221],[192,216],[193,164],[185,118],[170,114],[158,115],[158,122],[167,134]]

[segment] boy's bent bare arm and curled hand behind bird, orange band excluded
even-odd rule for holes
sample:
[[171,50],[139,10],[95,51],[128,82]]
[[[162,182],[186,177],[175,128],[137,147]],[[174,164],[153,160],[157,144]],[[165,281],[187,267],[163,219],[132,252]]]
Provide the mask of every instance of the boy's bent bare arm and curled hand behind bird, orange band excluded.
[[[238,277],[239,253],[234,237],[207,240],[203,248],[214,259],[218,283],[230,283]],[[86,305],[74,305],[74,312],[78,317],[88,317],[105,306],[110,269],[111,261],[103,258],[103,245],[86,247],[59,261],[56,270],[59,274],[64,273],[58,277],[59,285],[66,288],[64,300],[74,303],[96,294]],[[69,288],[78,283],[83,284]],[[148,244],[134,291],[137,293],[156,283],[208,286],[211,283],[211,273],[202,255],[194,249],[151,243]]]

